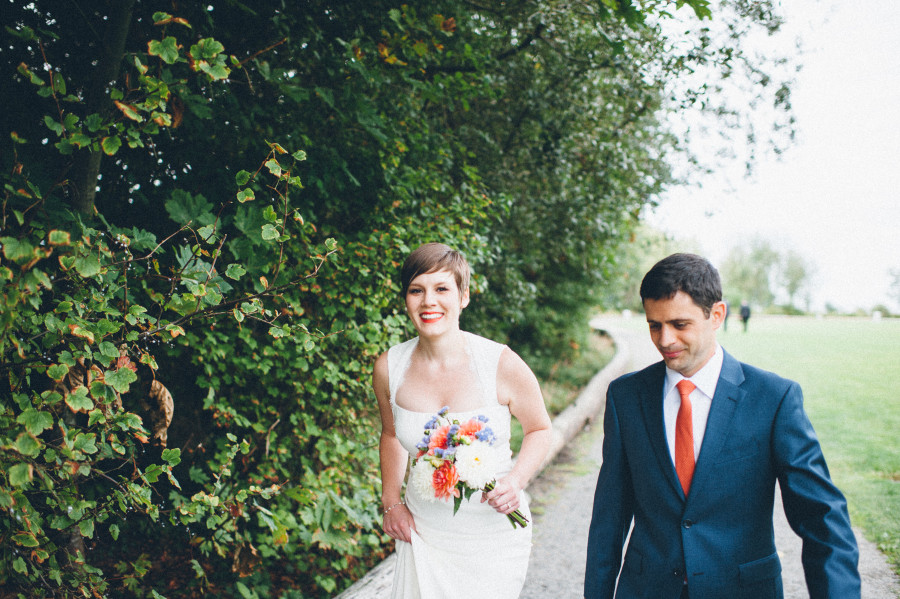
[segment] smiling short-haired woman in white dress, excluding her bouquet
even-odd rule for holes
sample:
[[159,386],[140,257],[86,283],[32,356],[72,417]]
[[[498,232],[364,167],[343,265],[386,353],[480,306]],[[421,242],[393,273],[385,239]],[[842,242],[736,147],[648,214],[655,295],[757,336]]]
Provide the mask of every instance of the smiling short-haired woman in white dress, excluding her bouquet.
[[[402,296],[418,337],[375,362],[372,384],[381,413],[384,530],[397,540],[391,597],[457,599],[519,596],[531,552],[529,523],[511,526],[516,510],[530,520],[524,487],[550,442],[550,418],[537,379],[505,345],[459,328],[469,304],[469,265],[440,243],[413,251],[401,269]],[[437,499],[427,484],[403,482],[426,423],[444,406],[460,422],[484,417],[501,462],[496,486],[463,500]],[[513,463],[510,415],[522,425]]]

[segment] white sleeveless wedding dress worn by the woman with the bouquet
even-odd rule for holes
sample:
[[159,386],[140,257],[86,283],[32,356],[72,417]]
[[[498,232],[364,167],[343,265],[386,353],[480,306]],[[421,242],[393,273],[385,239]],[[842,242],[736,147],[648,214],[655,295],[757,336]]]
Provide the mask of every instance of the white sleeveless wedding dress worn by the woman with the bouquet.
[[[478,415],[488,418],[487,426],[496,435],[494,447],[500,452],[499,479],[512,468],[509,408],[497,401],[497,366],[505,346],[471,333],[464,335],[470,371],[481,389],[482,407],[447,416],[460,422]],[[404,409],[395,402],[417,343],[418,338],[410,339],[388,350],[394,429],[411,458],[424,436],[425,424],[434,416]],[[513,528],[505,515],[487,502],[481,503],[480,493],[468,501],[463,499],[456,515],[452,501],[429,501],[409,487],[405,500],[417,533],[413,533],[411,543],[397,541],[393,599],[519,596],[531,553],[531,514],[524,493],[519,509],[529,520],[525,528]]]

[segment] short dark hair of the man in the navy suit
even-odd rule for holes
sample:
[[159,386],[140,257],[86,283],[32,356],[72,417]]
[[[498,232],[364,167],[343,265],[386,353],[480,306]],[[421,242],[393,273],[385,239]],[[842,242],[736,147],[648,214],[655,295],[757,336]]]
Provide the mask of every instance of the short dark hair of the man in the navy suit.
[[696,254],[672,254],[653,265],[641,281],[641,302],[669,299],[683,291],[709,318],[712,307],[722,301],[719,271]]

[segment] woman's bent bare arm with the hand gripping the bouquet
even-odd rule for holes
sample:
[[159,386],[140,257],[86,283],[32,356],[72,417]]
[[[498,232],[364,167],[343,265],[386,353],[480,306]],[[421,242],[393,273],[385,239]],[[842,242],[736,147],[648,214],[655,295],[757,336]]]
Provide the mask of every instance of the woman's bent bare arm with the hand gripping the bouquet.
[[497,367],[497,398],[522,425],[525,436],[512,471],[487,493],[491,506],[502,514],[519,508],[519,491],[541,467],[550,448],[550,416],[537,377],[522,358],[509,348]]

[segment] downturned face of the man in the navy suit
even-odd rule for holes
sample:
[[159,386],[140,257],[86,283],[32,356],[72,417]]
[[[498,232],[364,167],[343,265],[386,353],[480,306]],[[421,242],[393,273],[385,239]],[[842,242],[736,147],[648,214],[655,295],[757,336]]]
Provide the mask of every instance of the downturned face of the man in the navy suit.
[[716,352],[716,331],[725,318],[725,304],[713,306],[707,317],[703,308],[683,291],[667,299],[644,300],[650,338],[666,366],[691,377]]

